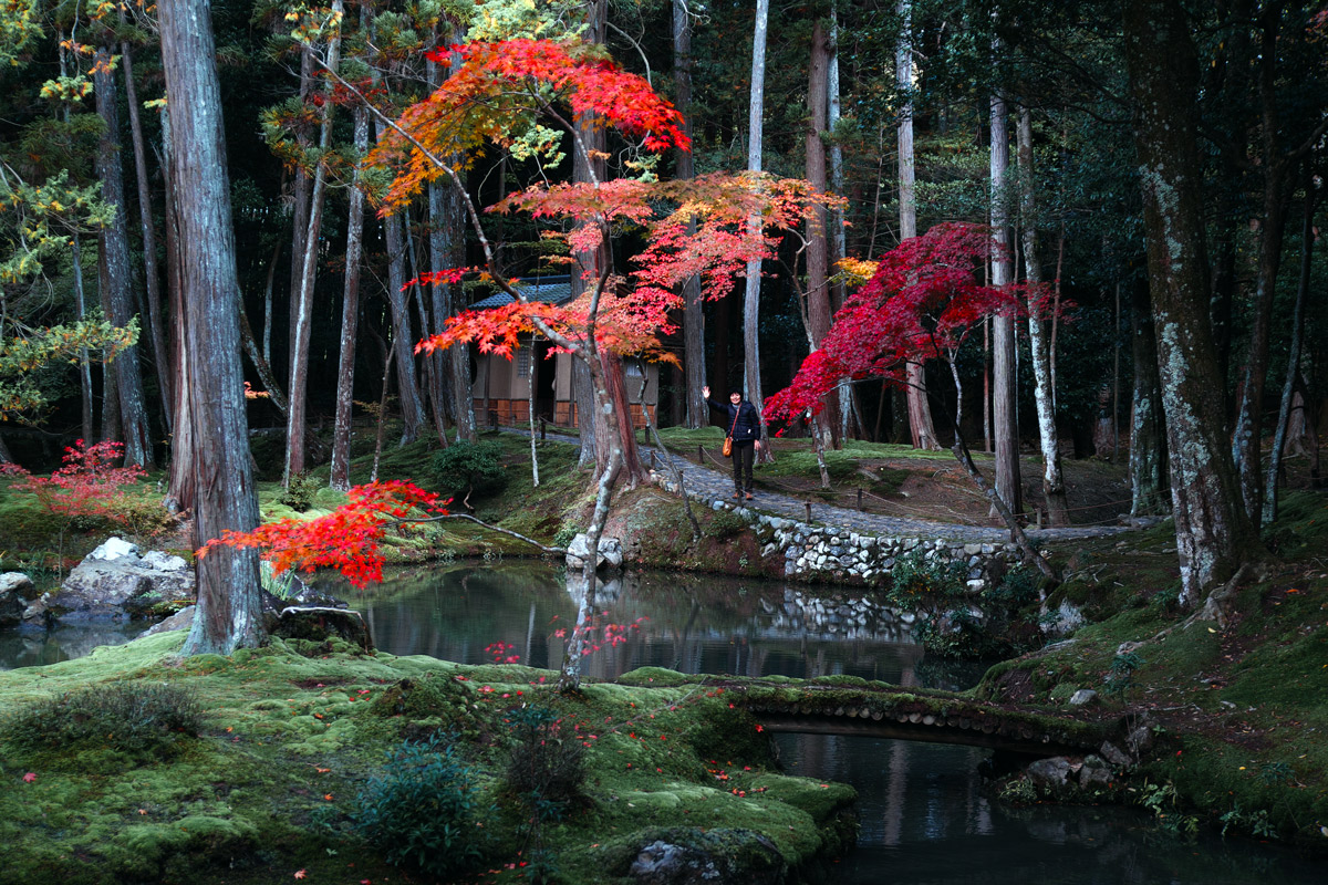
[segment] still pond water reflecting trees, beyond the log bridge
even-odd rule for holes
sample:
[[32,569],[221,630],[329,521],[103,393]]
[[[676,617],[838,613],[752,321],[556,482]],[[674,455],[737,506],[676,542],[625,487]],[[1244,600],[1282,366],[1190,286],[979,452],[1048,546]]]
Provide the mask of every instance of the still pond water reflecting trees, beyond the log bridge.
[[[551,666],[554,637],[575,612],[580,576],[544,563],[457,564],[396,576],[378,589],[352,594],[374,641],[394,654],[429,654],[467,663],[483,647],[509,642],[522,661]],[[592,678],[615,678],[640,666],[685,673],[815,677],[853,674],[910,682],[922,647],[895,625],[830,625],[793,617],[781,582],[718,576],[629,573],[596,589],[602,621],[632,624],[628,642],[604,646],[586,661]],[[568,625],[570,626],[570,625]]]

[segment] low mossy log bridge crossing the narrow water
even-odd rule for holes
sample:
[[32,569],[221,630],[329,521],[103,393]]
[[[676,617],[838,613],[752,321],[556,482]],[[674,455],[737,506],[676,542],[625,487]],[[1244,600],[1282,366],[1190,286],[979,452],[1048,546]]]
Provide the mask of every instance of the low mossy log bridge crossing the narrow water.
[[741,682],[725,689],[742,697],[733,702],[766,731],[955,743],[1037,756],[1101,752],[1104,743],[1120,746],[1117,739],[1123,734],[1116,720],[1092,722],[947,691],[839,679]]

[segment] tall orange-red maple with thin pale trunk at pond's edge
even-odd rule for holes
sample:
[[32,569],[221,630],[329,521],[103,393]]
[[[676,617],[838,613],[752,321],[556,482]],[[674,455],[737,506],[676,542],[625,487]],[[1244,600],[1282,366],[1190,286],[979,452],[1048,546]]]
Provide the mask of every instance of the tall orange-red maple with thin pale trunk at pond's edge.
[[[452,66],[450,76],[400,119],[384,119],[392,131],[368,157],[393,174],[382,211],[394,211],[426,182],[450,180],[483,251],[479,272],[510,295],[513,304],[453,317],[442,334],[420,346],[475,342],[482,352],[510,357],[519,336],[538,333],[587,366],[596,421],[603,421],[606,434],[596,446],[598,494],[586,532],[594,551],[620,475],[625,472],[628,484],[645,479],[628,413],[623,357],[671,360],[660,336],[673,330],[669,313],[681,306],[676,289],[683,280],[700,276],[706,297],[728,295],[749,261],[773,255],[781,228],[797,227],[829,198],[805,182],[746,174],[659,182],[648,174],[602,180],[591,171],[584,182],[531,187],[490,211],[525,212],[547,224],[546,236],[566,247],[563,263],[624,231],[639,234],[645,245],[631,272],[615,272],[608,261],[587,271],[584,295],[572,304],[530,301],[495,260],[482,215],[466,191],[463,169],[486,145],[510,147],[517,138],[538,135],[537,123],[543,122],[559,127],[590,170],[603,155],[582,138],[586,125],[614,127],[637,139],[631,146],[637,157],[675,147],[685,151],[691,145],[683,118],[644,78],[614,64],[602,46],[509,40],[436,50],[430,58]],[[347,92],[357,92],[329,73]],[[448,279],[456,280],[458,272],[446,272]],[[560,685],[566,689],[579,681],[576,661],[594,610],[595,560],[587,557],[587,592],[563,659]]]

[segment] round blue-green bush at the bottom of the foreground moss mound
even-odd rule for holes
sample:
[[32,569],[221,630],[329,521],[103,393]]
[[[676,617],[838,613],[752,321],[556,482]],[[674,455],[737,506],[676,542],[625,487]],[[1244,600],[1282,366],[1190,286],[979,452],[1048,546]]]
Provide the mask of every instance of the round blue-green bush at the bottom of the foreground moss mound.
[[389,864],[456,881],[479,869],[489,852],[490,809],[478,780],[452,743],[437,735],[406,740],[360,793],[356,827]]

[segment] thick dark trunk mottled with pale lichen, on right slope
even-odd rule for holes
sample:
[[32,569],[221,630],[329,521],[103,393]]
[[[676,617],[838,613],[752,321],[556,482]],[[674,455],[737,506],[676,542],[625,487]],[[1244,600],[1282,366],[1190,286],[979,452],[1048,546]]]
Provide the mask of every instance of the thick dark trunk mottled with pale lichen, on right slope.
[[1171,459],[1181,602],[1263,555],[1240,506],[1223,433],[1222,385],[1208,318],[1198,157],[1198,60],[1177,0],[1126,0],[1125,57],[1135,103],[1151,314]]

